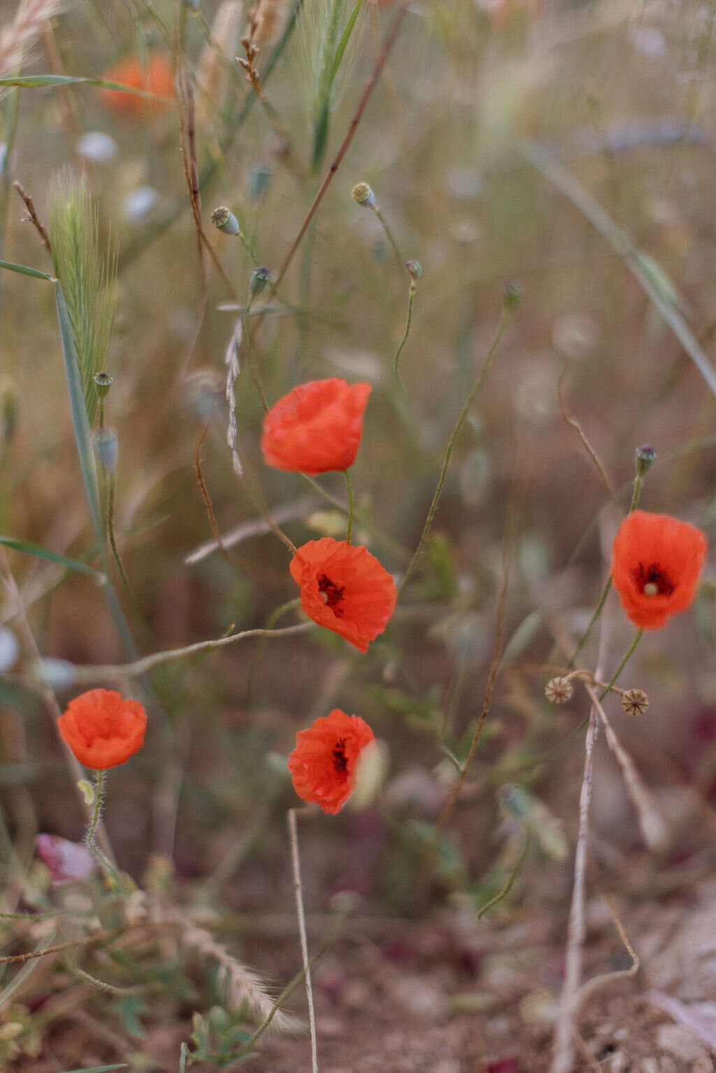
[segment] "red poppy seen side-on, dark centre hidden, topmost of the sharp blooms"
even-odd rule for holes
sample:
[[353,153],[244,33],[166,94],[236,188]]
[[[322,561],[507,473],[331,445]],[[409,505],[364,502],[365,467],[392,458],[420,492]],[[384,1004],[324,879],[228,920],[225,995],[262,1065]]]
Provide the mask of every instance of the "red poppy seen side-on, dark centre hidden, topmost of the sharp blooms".
[[370,392],[370,384],[348,384],[337,377],[294,387],[263,420],[266,465],[309,476],[348,469],[361,443]]

